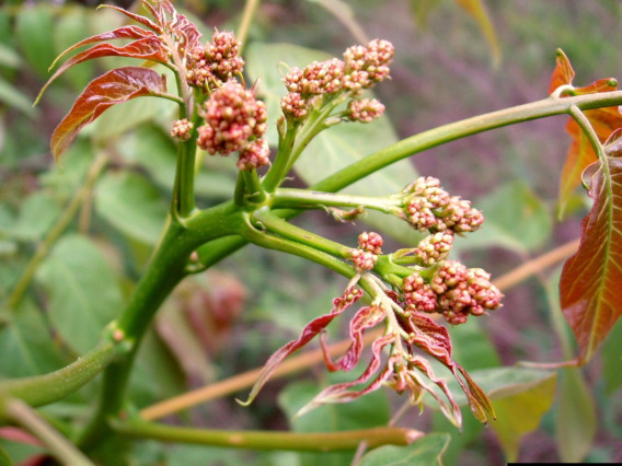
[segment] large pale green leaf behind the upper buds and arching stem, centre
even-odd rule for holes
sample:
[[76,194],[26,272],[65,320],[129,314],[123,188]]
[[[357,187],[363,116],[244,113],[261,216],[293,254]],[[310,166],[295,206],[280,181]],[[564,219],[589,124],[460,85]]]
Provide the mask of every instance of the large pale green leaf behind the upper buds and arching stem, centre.
[[[288,67],[304,67],[314,60],[330,58],[325,53],[289,44],[252,44],[246,51],[246,71],[256,79],[261,77],[260,95],[268,108],[267,138],[277,144],[276,118],[281,114],[280,97],[286,89],[280,81],[280,70]],[[276,65],[281,62],[280,68]],[[287,63],[287,66],[283,63]],[[365,155],[396,142],[398,137],[388,118],[370,124],[343,123],[318,135],[295,164],[295,171],[307,184],[313,184],[326,175],[354,163]],[[321,167],[321,170],[319,170]],[[404,160],[375,173],[348,187],[344,193],[366,196],[395,194],[414,182],[417,173],[408,160]],[[405,222],[377,212],[369,212],[366,223],[404,244],[416,244],[421,237]]]

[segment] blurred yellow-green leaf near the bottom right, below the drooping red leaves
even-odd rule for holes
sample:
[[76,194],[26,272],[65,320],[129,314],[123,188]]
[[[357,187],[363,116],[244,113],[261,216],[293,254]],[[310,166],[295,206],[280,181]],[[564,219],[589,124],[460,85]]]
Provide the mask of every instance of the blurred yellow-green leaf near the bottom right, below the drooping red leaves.
[[557,374],[526,385],[518,393],[511,388],[497,389],[491,397],[497,419],[491,427],[503,445],[506,459],[516,462],[521,438],[534,431],[540,424],[542,416],[549,411],[555,397]]

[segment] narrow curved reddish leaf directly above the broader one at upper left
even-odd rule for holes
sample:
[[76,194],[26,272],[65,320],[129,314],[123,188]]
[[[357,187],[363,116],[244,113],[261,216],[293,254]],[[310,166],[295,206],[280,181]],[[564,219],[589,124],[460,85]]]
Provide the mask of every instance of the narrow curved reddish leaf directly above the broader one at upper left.
[[[53,74],[53,77],[45,83],[39,92],[39,97],[51,82],[67,71],[69,68],[82,63],[88,60],[101,57],[129,57],[140,58],[142,60],[157,61],[165,63],[168,61],[168,54],[164,49],[160,38],[156,34],[150,33],[151,36],[141,37],[123,47],[115,47],[111,44],[97,44],[88,50],[81,51],[67,60],[62,66]],[[73,48],[73,47],[72,47]],[[68,49],[69,50],[69,49]],[[67,50],[66,50],[67,51]],[[38,98],[37,97],[37,101]]]

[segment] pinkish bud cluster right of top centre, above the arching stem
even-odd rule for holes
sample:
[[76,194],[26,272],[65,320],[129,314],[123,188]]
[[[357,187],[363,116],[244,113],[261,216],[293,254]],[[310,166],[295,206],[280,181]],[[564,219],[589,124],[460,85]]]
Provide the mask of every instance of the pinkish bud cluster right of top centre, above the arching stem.
[[[388,40],[371,40],[367,46],[354,46],[344,53],[344,60],[332,58],[313,61],[303,69],[292,68],[283,78],[289,94],[281,98],[286,116],[302,119],[315,97],[345,91],[353,95],[389,77],[389,63],[394,47]],[[350,110],[353,120],[371,121],[384,109],[378,101],[364,101]]]

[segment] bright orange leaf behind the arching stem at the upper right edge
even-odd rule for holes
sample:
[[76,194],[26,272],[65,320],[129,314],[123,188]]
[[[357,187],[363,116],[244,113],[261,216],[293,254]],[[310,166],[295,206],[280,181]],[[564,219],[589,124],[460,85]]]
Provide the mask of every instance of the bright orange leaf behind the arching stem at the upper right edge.
[[[575,72],[568,58],[562,50],[557,50],[557,66],[555,67],[555,71],[551,79],[549,93],[553,93],[561,85],[572,84],[574,77]],[[602,79],[584,88],[568,89],[562,92],[560,97],[610,92],[615,91],[617,89],[618,82],[615,80]],[[615,129],[622,127],[622,115],[618,107],[586,110],[585,115],[596,130],[600,142],[604,142]],[[563,215],[571,196],[575,188],[579,185],[583,171],[597,160],[591,144],[588,142],[583,130],[579,128],[574,118],[568,120],[566,131],[572,136],[573,142],[566,155],[566,162],[564,164],[560,182],[560,217]]]

